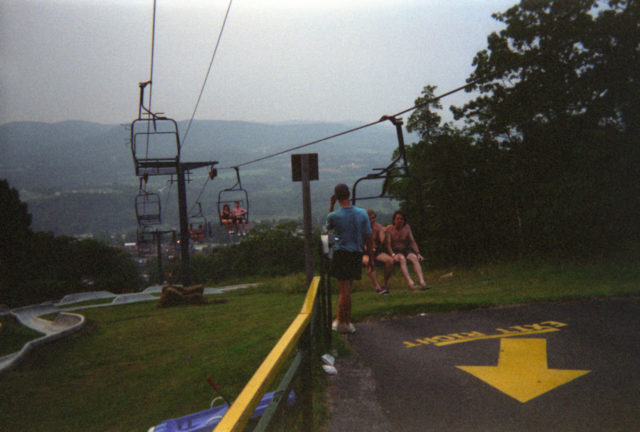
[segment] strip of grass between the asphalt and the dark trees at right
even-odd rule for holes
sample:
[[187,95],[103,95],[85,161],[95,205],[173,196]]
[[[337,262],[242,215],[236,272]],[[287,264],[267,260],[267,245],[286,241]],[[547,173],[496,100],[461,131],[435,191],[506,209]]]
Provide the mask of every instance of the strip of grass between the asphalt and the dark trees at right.
[[412,292],[395,269],[391,296],[385,297],[372,295],[371,283],[363,277],[354,284],[354,320],[640,294],[640,265],[613,261],[561,265],[532,261],[496,263],[471,269],[427,271],[425,276],[432,288]]

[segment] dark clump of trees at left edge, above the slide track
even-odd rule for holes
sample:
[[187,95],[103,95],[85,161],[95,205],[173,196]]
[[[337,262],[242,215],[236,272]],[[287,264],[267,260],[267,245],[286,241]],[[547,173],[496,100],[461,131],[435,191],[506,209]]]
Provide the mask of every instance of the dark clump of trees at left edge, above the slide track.
[[0,181],[0,304],[37,304],[80,291],[138,289],[138,268],[123,250],[95,240],[34,232],[27,205]]

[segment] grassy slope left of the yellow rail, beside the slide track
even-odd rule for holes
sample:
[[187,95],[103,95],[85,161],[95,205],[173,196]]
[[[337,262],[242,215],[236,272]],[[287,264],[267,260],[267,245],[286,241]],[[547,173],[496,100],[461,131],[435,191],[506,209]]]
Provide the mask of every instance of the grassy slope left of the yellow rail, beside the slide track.
[[214,394],[207,375],[239,393],[303,297],[224,298],[172,309],[151,302],[85,310],[86,331],[0,377],[3,430],[144,431],[208,408]]

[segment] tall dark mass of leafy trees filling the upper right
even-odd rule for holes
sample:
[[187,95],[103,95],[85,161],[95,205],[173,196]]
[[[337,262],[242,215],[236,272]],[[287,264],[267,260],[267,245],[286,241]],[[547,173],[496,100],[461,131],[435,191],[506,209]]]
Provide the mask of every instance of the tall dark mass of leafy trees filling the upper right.
[[436,257],[619,249],[640,238],[640,12],[635,0],[525,0],[494,17],[469,91],[441,124],[433,86],[407,128],[424,205],[402,207]]

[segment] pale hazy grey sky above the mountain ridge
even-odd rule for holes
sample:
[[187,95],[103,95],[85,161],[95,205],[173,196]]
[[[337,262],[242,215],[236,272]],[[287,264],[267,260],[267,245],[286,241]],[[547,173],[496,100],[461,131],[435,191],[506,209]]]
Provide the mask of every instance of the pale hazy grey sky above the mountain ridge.
[[[196,119],[370,122],[464,84],[516,0],[234,0]],[[228,0],[157,0],[152,109],[191,118]],[[129,123],[153,0],[0,0],[0,124]],[[443,100],[460,105],[464,93]]]

